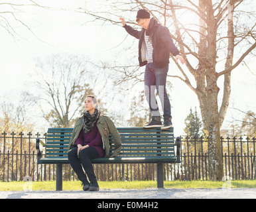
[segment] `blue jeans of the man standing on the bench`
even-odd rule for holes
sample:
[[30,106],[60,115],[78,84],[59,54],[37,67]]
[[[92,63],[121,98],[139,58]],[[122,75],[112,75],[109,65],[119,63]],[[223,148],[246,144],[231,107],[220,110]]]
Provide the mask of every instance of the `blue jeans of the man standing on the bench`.
[[170,100],[166,93],[166,77],[168,72],[168,65],[163,68],[155,68],[153,63],[146,65],[145,69],[145,95],[147,97],[147,102],[149,103],[149,108],[151,110],[152,116],[160,116],[159,106],[157,104],[157,99],[155,96],[155,89],[157,88],[157,93],[162,105],[162,111],[164,112],[164,117],[170,116]]

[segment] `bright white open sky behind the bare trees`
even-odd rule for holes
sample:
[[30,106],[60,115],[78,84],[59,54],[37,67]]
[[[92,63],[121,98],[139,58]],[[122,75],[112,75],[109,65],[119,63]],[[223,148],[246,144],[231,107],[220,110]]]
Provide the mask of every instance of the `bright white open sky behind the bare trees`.
[[[5,28],[0,27],[0,97],[19,93],[19,91],[31,86],[31,76],[34,74],[34,58],[62,52],[84,54],[94,59],[108,58],[107,60],[110,61],[111,58],[115,57],[116,60],[118,57],[113,54],[115,52],[113,46],[118,46],[127,36],[127,32],[121,27],[121,23],[120,26],[102,26],[90,22],[86,23],[88,21],[86,15],[72,11],[76,7],[84,6],[85,1],[47,0],[41,2],[56,9],[46,10],[24,7],[23,11],[28,11],[29,13],[19,13],[19,17],[31,28],[34,34],[26,26],[13,19],[11,20],[11,18],[10,23],[15,28],[17,35],[13,37]],[[88,1],[86,7],[93,7],[93,4],[94,1]],[[60,5],[66,10],[59,11]],[[127,18],[132,19],[132,17]],[[129,38],[128,40],[131,41],[132,39]],[[131,45],[136,47],[137,42],[131,42]],[[121,48],[120,45],[119,48]],[[134,54],[137,54],[137,52],[134,52]],[[127,57],[127,60],[129,60],[129,57],[133,58],[133,55],[127,55]],[[232,72],[231,97],[224,126],[229,125],[229,121],[233,119],[241,119],[243,117],[243,114],[232,109],[233,107],[242,111],[251,110],[256,112],[255,58],[247,60],[247,66],[251,70],[239,65]],[[141,68],[141,72],[144,69]],[[177,72],[176,65],[171,61],[168,74],[172,75],[175,72]],[[183,134],[184,119],[190,112],[190,108],[197,107],[198,111],[200,109],[196,95],[187,85],[179,79],[172,78],[169,80],[172,83],[170,92],[172,123],[174,125],[174,134],[178,136]],[[222,81],[223,79],[220,79],[219,86],[221,88]],[[129,97],[125,101],[130,100],[131,98]]]

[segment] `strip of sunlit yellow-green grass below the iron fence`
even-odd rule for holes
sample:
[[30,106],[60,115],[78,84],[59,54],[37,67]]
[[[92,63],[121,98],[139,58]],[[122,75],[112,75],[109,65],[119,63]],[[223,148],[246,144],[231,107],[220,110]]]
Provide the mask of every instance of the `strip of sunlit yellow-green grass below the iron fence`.
[[[100,189],[145,189],[157,187],[156,181],[131,181],[131,182],[102,182],[99,181]],[[211,181],[165,181],[165,188],[220,188],[228,182],[211,182]],[[29,187],[31,185],[31,187]],[[0,182],[0,191],[23,191],[28,188],[33,191],[55,191],[56,182]],[[256,187],[256,180],[233,180],[231,188]],[[82,190],[81,183],[78,181],[63,181],[63,190]]]

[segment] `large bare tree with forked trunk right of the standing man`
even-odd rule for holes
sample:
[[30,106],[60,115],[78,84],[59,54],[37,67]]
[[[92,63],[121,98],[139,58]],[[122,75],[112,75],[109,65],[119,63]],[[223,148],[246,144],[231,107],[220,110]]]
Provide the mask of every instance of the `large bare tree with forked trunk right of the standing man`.
[[[251,0],[113,0],[105,1],[105,7],[101,5],[109,12],[80,10],[96,20],[117,25],[118,16],[145,8],[162,25],[175,31],[171,36],[180,47],[187,70],[177,64],[180,75],[171,77],[186,83],[198,97],[204,128],[209,134],[211,180],[222,180],[224,174],[220,127],[229,105],[231,71],[245,62],[256,46],[252,4]],[[136,26],[134,21],[127,23]],[[217,81],[222,76],[224,92],[219,107]]]

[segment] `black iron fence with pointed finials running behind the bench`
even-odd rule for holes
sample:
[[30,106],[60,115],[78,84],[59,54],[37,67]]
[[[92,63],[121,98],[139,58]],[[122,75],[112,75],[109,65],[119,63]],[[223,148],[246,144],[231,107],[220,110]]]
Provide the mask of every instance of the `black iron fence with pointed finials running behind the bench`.
[[[56,165],[37,164],[35,140],[46,133],[0,134],[0,181],[55,180]],[[225,178],[255,180],[255,137],[223,138],[222,158]],[[181,138],[180,164],[164,164],[165,180],[209,180],[208,138]],[[157,180],[156,164],[94,164],[102,181]],[[78,180],[69,164],[63,166],[64,180]]]

